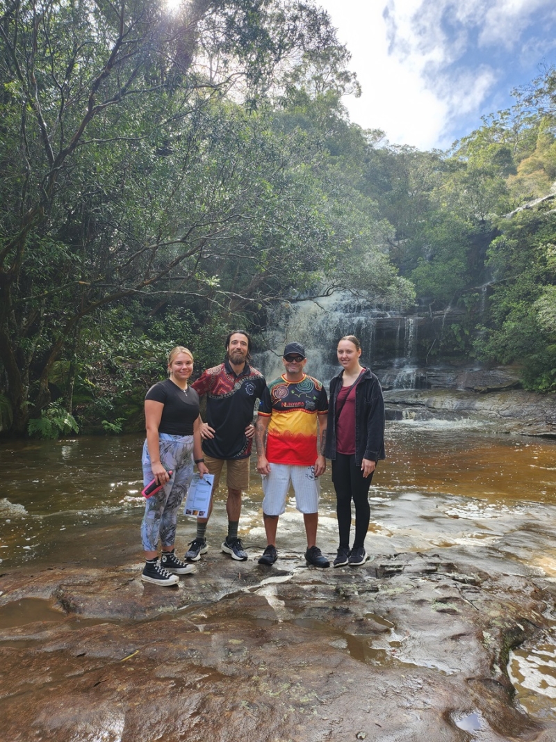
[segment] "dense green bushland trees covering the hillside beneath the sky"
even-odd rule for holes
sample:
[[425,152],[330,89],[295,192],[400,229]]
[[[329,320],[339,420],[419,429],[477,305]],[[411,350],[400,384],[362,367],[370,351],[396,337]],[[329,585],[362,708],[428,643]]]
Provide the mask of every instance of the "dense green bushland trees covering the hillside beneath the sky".
[[86,427],[124,429],[174,345],[198,373],[276,299],[336,289],[457,307],[434,352],[554,388],[555,70],[420,152],[349,121],[349,53],[312,4],[14,0],[0,45],[14,430],[74,430],[72,395]]

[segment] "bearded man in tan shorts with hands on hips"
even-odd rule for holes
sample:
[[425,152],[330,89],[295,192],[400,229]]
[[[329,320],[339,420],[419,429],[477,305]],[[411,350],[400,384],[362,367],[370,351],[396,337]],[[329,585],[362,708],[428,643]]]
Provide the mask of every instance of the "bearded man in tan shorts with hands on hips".
[[[228,536],[222,551],[232,559],[245,561],[247,553],[237,536],[242,507],[242,490],[249,486],[249,458],[254,436],[253,411],[255,401],[265,390],[265,377],[249,366],[251,338],[244,330],[235,330],[226,338],[223,364],[207,369],[193,381],[191,387],[207,395],[207,421],[201,426],[202,450],[206,467],[214,474],[214,490],[218,487],[222,467],[226,464],[228,485]],[[213,494],[214,499],[214,494]],[[196,562],[208,551],[205,538],[211,507],[206,518],[197,519],[197,533],[185,558]]]

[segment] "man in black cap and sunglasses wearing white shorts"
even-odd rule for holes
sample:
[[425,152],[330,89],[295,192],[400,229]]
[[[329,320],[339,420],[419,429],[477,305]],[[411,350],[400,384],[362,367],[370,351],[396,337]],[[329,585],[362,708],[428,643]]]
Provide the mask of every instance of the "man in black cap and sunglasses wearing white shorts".
[[257,471],[262,474],[262,512],[267,547],[259,564],[277,559],[278,518],[285,512],[290,482],[297,510],[303,513],[307,533],[305,559],[315,567],[330,562],[317,547],[319,477],[326,468],[324,439],[328,398],[320,381],[304,372],[307,358],[299,343],[288,343],[282,363],[285,373],[274,379],[262,394],[257,417]]

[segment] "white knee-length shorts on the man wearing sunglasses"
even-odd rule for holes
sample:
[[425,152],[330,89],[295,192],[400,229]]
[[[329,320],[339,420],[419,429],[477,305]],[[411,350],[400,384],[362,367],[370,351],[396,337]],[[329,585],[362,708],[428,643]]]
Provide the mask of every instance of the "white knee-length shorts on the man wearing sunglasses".
[[319,510],[320,482],[312,466],[270,464],[271,473],[262,476],[262,512],[265,515],[282,515],[290,482],[294,485],[295,504],[299,513],[317,513]]

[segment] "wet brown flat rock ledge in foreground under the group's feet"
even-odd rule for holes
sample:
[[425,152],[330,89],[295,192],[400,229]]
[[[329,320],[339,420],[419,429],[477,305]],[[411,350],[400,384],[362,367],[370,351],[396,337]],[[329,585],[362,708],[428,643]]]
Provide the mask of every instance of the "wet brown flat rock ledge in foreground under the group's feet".
[[487,556],[209,552],[174,588],[139,563],[7,571],[0,738],[553,742],[556,715],[526,714],[506,664],[551,631],[555,586]]

